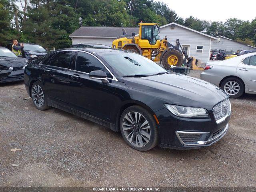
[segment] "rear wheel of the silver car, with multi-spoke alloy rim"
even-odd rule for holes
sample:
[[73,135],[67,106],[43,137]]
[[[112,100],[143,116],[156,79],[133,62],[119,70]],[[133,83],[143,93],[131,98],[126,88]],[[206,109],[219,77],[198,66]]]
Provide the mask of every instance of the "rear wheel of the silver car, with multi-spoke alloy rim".
[[231,98],[238,98],[244,94],[244,84],[243,82],[235,77],[226,78],[222,84],[221,89],[226,92]]

